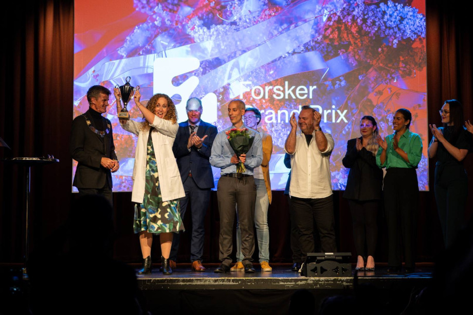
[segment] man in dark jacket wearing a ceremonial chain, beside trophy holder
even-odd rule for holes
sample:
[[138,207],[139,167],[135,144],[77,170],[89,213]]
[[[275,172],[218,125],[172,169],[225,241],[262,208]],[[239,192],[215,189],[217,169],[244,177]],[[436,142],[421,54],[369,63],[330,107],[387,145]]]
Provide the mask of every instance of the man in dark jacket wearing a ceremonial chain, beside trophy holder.
[[112,123],[102,117],[110,91],[94,85],[87,91],[89,109],[72,121],[69,151],[78,161],[72,183],[82,195],[103,195],[112,203],[112,174],[119,163],[113,143]]

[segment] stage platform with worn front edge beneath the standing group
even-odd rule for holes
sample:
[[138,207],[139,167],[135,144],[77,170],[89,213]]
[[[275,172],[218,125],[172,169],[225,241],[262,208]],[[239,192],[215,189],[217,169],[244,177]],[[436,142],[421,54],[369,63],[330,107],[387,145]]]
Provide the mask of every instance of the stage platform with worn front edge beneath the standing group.
[[[271,272],[262,272],[259,264],[253,264],[256,273],[251,274],[214,273],[218,264],[204,266],[205,272],[193,272],[190,264],[178,264],[172,275],[163,275],[156,265],[152,274],[138,275],[148,309],[171,314],[287,314],[293,294],[306,289],[315,298],[315,310],[325,298],[341,295],[361,297],[375,305],[378,313],[398,315],[411,294],[429,284],[433,271],[433,264],[418,264],[414,273],[394,274],[378,264],[374,272],[305,277],[291,271],[292,264],[271,264]],[[138,265],[133,267],[138,270]]]

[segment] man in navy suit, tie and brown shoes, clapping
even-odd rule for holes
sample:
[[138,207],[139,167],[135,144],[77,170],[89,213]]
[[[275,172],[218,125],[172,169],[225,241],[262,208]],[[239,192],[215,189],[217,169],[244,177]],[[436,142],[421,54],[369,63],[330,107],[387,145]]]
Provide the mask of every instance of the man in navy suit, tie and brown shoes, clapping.
[[[214,188],[212,168],[209,163],[217,127],[201,120],[202,102],[197,98],[187,101],[188,120],[179,123],[172,151],[177,159],[186,197],[180,199],[180,216],[184,220],[190,201],[192,213],[191,262],[193,271],[205,271],[202,266],[204,252],[204,218]],[[171,268],[175,267],[179,234],[175,234],[171,247]]]

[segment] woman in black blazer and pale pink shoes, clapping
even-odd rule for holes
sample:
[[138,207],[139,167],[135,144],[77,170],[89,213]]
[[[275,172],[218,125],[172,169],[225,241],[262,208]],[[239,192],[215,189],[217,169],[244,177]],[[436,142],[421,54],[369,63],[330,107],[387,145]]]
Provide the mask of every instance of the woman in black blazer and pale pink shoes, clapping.
[[[350,169],[343,198],[349,199],[353,218],[353,237],[358,254],[355,270],[374,271],[374,251],[378,228],[376,215],[381,199],[383,170],[376,165],[378,127],[371,116],[363,116],[361,137],[350,139],[343,166]],[[365,268],[366,262],[366,268]]]

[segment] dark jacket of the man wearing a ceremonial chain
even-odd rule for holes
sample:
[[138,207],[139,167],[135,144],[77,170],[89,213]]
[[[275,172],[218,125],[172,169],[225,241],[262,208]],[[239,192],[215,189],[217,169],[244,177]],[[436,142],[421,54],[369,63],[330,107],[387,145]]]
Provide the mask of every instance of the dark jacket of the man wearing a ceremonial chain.
[[[108,183],[108,187],[112,188],[112,173],[100,165],[102,157],[118,160],[113,143],[112,123],[103,117],[105,125],[110,124],[110,133],[101,138],[87,126],[84,115],[77,116],[72,121],[69,152],[79,162],[72,185],[78,189],[101,189]],[[92,116],[88,115],[88,119],[93,123]]]

